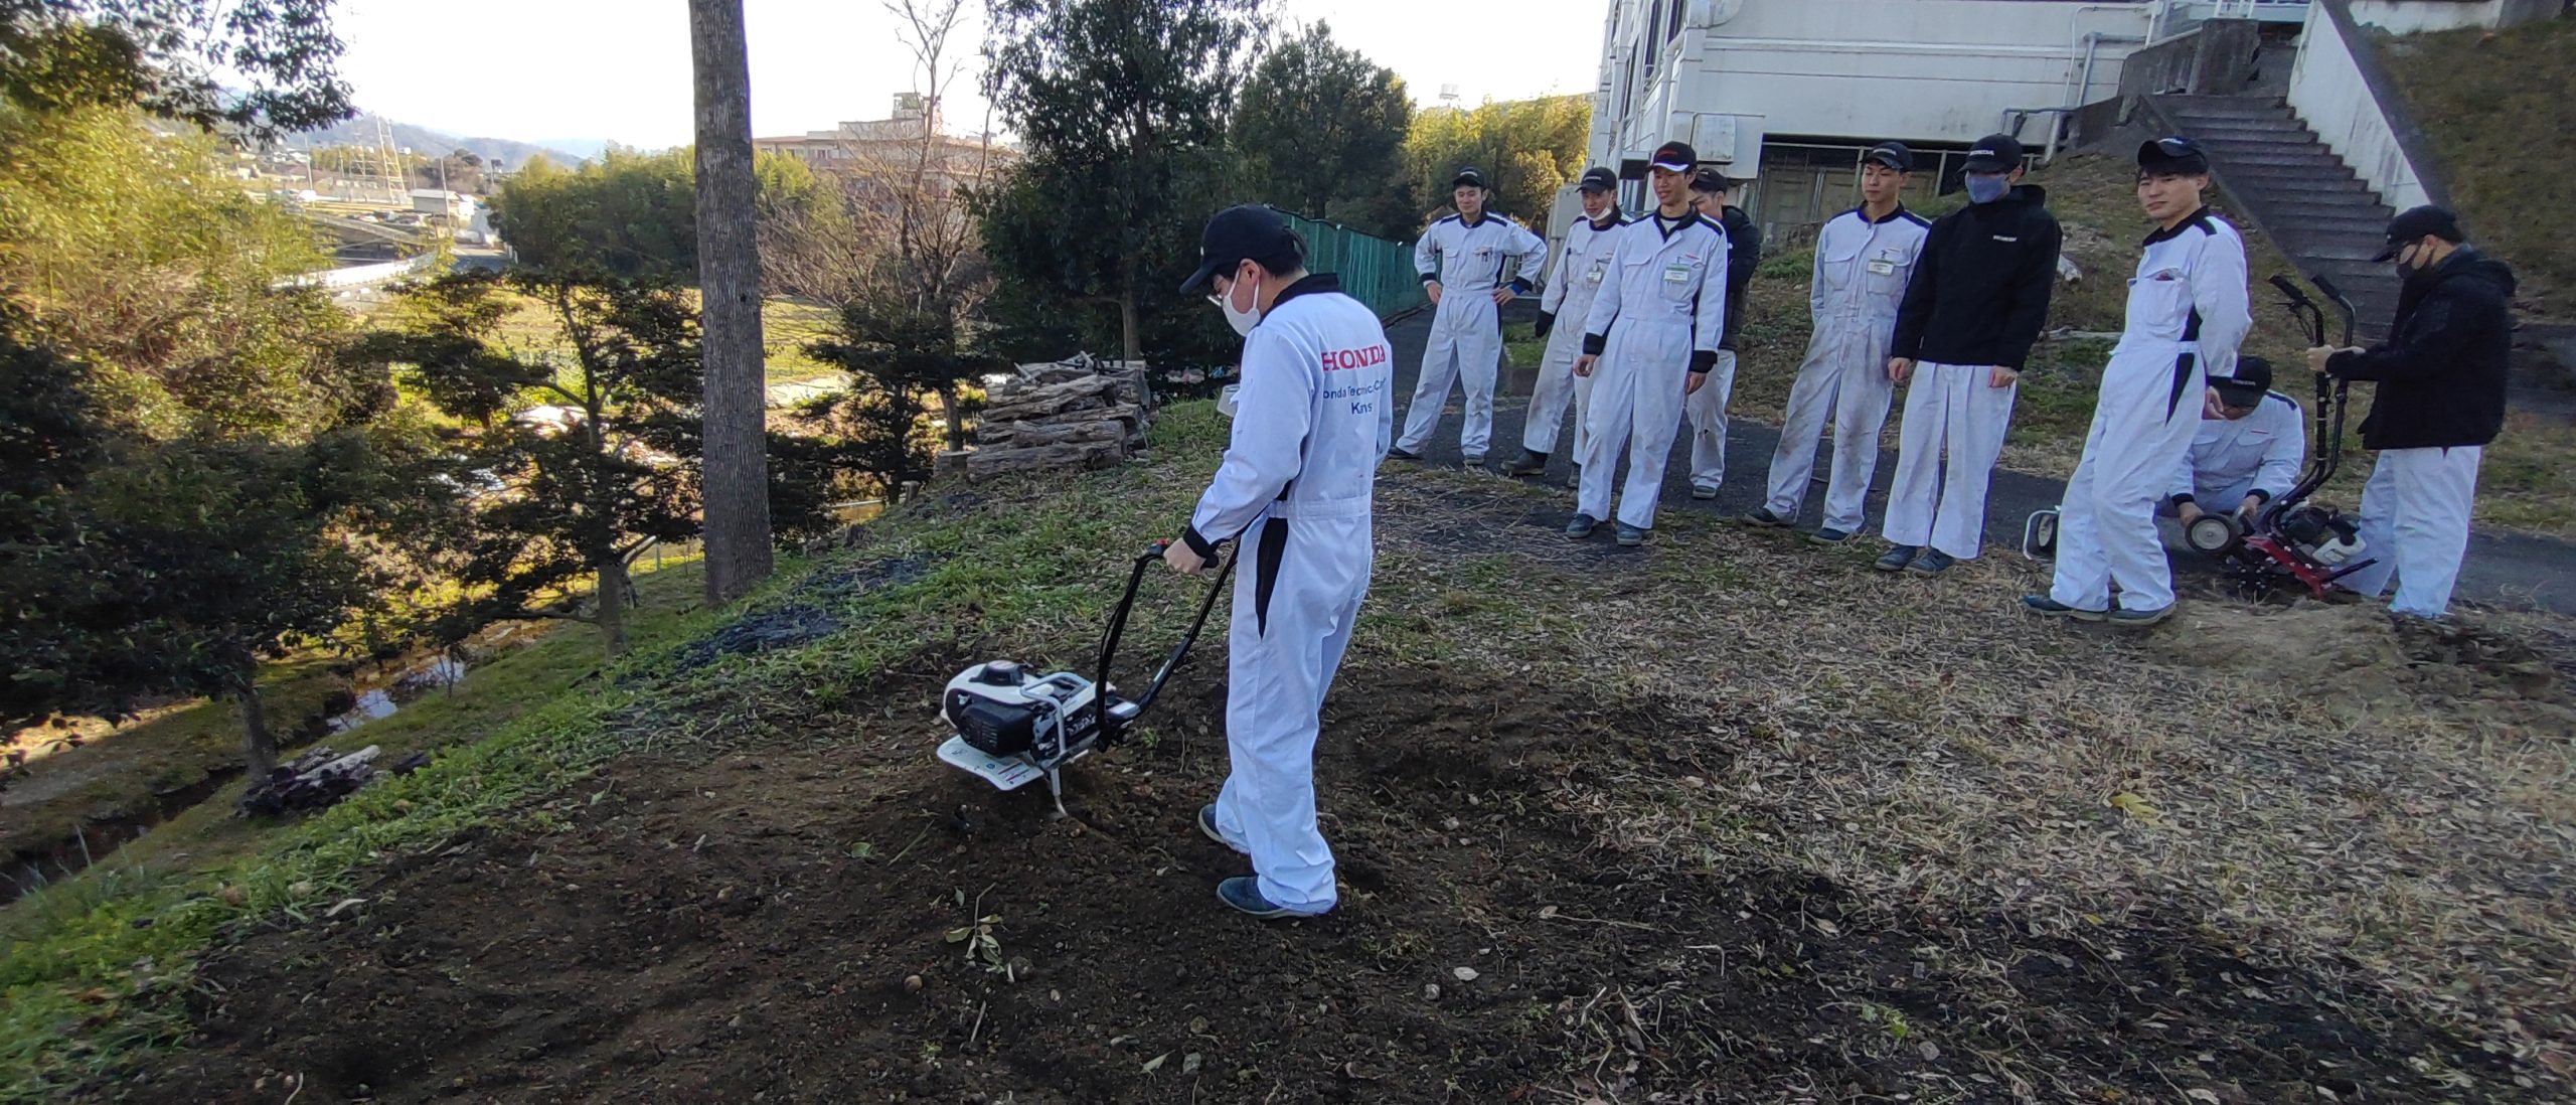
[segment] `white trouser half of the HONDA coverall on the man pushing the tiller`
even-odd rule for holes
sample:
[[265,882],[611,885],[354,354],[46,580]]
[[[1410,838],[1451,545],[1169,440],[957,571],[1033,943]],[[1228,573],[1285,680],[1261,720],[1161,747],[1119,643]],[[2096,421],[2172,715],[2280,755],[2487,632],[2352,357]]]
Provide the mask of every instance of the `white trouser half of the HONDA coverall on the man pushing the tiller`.
[[1319,914],[1337,894],[1314,819],[1314,739],[1368,598],[1370,520],[1265,518],[1244,541],[1255,546],[1234,574],[1226,631],[1229,770],[1216,832],[1252,855],[1262,899]]

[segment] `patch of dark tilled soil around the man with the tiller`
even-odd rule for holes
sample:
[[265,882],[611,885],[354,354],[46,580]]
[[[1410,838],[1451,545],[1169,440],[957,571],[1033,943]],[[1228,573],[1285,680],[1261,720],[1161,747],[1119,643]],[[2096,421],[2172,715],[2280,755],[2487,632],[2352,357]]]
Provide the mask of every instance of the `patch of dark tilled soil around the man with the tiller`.
[[[1216,652],[1216,649],[1211,649]],[[1211,657],[1193,672],[1221,670]],[[363,904],[245,932],[137,1102],[2517,1100],[2347,981],[2184,925],[2032,938],[1620,842],[1607,762],[1708,786],[1723,724],[1355,665],[1319,750],[1342,909],[1252,922],[1190,822],[1221,690],[1043,793],[917,732],[621,762]],[[994,956],[971,958],[976,920]],[[958,940],[963,935],[963,940]],[[2437,1072],[2447,1082],[2434,1082]]]

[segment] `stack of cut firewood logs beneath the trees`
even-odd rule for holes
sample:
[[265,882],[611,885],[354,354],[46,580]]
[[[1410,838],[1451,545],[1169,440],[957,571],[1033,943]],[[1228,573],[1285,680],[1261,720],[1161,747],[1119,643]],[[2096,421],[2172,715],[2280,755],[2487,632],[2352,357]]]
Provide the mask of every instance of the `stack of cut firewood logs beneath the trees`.
[[938,458],[938,477],[992,479],[1012,471],[1105,469],[1144,448],[1154,394],[1144,363],[1072,361],[1020,366],[987,392],[974,448]]

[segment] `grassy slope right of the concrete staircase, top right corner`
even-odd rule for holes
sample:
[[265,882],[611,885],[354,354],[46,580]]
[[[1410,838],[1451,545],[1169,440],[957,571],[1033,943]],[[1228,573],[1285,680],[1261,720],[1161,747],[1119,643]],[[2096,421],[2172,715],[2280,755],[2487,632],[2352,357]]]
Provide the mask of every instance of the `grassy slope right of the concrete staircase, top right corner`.
[[2388,72],[2432,139],[2468,234],[2522,276],[2519,299],[2576,319],[2576,21],[2385,39]]

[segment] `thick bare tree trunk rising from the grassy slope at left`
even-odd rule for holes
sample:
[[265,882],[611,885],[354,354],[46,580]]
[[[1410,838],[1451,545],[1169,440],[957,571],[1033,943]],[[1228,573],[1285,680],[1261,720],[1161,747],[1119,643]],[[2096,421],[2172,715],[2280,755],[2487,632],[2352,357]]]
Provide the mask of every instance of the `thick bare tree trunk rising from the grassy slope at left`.
[[721,605],[770,574],[752,77],[742,0],[688,0],[688,41],[698,72],[698,291],[706,304],[706,603]]

